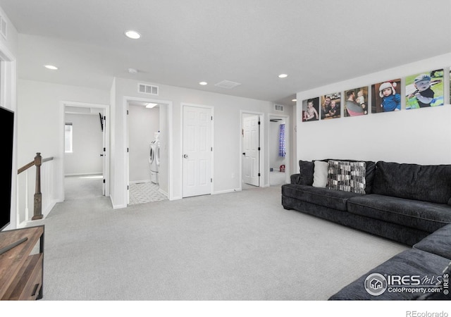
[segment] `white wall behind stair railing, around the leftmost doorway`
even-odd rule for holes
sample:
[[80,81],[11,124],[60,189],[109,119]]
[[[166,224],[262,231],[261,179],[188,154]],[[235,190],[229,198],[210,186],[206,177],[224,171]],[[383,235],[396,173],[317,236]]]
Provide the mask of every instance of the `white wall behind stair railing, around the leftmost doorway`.
[[[55,201],[64,197],[63,104],[109,104],[109,92],[87,87],[55,85],[48,82],[18,80],[18,166],[32,161],[37,152],[54,157]],[[32,189],[31,192],[34,192]],[[32,205],[32,201],[30,202]]]

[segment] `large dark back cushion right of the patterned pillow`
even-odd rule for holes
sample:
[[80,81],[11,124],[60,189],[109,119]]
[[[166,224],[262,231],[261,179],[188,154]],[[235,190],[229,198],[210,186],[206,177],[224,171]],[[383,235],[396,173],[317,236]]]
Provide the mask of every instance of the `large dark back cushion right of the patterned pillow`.
[[378,161],[373,194],[447,204],[451,197],[451,165]]

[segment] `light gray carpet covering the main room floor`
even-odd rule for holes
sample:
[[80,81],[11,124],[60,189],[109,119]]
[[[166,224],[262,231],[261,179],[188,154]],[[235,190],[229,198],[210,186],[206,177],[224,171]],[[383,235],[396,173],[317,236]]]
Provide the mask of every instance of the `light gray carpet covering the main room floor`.
[[286,211],[280,187],[125,209],[73,199],[40,223],[44,300],[326,300],[407,249]]

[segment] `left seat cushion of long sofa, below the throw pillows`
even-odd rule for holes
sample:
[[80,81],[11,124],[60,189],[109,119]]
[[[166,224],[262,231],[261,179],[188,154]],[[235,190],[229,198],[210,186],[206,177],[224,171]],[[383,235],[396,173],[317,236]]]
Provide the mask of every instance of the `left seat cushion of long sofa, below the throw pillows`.
[[346,211],[347,199],[362,194],[354,192],[342,192],[340,190],[313,187],[308,185],[285,184],[282,186],[282,194],[311,204]]

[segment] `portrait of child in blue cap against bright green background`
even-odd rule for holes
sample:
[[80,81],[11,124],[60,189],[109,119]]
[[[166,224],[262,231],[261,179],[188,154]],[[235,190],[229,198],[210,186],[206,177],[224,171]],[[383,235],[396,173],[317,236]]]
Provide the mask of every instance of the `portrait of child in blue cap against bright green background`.
[[406,77],[406,109],[443,106],[443,69]]

